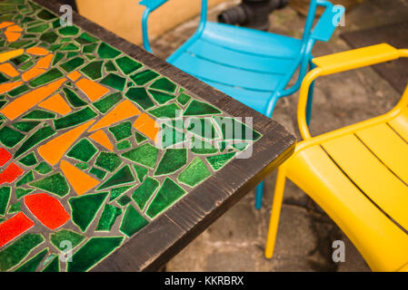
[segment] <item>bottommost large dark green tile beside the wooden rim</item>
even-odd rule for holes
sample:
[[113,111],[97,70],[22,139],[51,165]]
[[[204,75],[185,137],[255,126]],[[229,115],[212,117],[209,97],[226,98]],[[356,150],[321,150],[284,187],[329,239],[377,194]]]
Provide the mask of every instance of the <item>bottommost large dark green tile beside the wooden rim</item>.
[[104,257],[108,256],[117,247],[122,245],[124,237],[91,237],[67,263],[68,272],[85,272]]

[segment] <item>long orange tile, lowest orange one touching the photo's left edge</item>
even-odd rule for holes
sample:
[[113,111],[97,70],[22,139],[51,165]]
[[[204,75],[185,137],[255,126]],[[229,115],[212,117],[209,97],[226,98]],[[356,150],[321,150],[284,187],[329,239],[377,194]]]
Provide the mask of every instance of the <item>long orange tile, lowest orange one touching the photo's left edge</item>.
[[[8,103],[5,108],[0,110],[0,112],[4,114],[8,119],[15,120],[15,118],[25,113],[25,111],[28,111],[38,102],[43,101],[46,97],[55,92],[64,82],[66,82],[65,78],[57,80],[55,82],[51,82],[31,92],[27,92],[21,97],[15,99],[15,101]],[[20,82],[20,84],[21,83],[22,82]],[[0,93],[1,86],[2,85],[0,85]]]

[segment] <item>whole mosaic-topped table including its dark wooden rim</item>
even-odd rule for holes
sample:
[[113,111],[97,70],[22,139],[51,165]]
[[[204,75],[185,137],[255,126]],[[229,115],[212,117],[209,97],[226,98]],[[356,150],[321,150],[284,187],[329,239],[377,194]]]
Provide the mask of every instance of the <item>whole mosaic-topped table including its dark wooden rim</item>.
[[0,2],[0,271],[158,269],[294,137],[59,7]]

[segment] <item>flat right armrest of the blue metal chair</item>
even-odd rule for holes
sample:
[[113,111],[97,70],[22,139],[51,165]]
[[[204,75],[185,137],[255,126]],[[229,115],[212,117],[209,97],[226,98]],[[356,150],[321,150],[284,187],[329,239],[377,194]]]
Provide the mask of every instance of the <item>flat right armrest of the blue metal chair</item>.
[[318,1],[317,5],[325,6],[324,13],[313,28],[311,38],[323,42],[329,41],[334,32],[334,29],[339,24],[343,14],[344,7],[342,5],[332,5],[327,1]]

